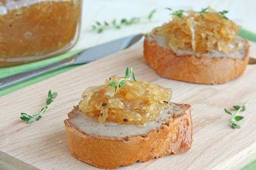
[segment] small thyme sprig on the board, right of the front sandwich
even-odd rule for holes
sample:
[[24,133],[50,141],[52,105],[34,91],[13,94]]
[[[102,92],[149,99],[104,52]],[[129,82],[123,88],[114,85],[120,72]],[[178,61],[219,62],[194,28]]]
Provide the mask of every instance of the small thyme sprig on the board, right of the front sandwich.
[[244,119],[244,116],[239,116],[238,114],[241,112],[241,111],[245,111],[246,109],[246,106],[249,104],[250,102],[247,102],[246,104],[244,105],[235,105],[233,106],[233,109],[236,110],[236,113],[233,114],[231,113],[230,111],[228,111],[226,108],[224,108],[224,111],[228,114],[231,115],[231,118],[230,118],[230,124],[231,124],[231,127],[233,127],[233,129],[236,129],[236,128],[241,128],[240,125],[237,124],[238,121]]

